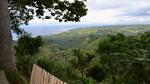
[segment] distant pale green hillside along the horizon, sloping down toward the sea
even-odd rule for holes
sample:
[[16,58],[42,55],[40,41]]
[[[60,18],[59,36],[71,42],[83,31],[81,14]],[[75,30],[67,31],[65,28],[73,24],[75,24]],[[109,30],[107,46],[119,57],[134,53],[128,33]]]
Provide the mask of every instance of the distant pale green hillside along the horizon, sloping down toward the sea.
[[44,36],[44,38],[47,44],[54,43],[63,48],[79,48],[91,41],[103,39],[109,34],[136,35],[148,31],[150,31],[150,25],[96,26],[72,29],[56,35]]

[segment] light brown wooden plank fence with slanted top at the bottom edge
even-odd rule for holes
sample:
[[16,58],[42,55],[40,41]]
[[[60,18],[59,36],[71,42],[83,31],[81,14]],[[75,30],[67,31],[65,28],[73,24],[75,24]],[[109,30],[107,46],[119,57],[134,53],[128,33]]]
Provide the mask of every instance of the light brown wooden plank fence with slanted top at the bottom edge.
[[67,84],[37,65],[33,65],[30,84]]

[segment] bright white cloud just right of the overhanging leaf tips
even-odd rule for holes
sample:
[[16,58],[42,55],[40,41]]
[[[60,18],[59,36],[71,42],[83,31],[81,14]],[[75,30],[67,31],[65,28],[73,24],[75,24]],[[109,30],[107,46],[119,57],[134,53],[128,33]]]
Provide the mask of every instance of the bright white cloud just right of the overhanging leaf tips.
[[88,12],[81,20],[85,23],[111,24],[116,23],[117,15],[122,14],[117,10],[103,10]]

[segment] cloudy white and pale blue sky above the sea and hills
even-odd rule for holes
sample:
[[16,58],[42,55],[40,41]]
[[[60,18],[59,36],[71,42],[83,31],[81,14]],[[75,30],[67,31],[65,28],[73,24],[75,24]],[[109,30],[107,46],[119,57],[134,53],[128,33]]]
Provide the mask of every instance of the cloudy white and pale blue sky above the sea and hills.
[[[87,0],[88,13],[81,23],[147,24],[150,22],[150,0]],[[30,23],[59,23],[55,20],[32,20]],[[64,23],[65,24],[65,23]]]

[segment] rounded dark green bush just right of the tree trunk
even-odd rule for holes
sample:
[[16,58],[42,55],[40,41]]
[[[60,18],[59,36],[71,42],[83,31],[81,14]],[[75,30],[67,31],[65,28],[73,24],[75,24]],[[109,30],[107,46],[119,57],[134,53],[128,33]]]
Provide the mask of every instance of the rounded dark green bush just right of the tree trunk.
[[32,38],[30,35],[22,35],[18,39],[18,43],[15,46],[16,55],[24,56],[24,55],[35,55],[39,52],[40,46],[43,45],[43,41],[41,36],[37,36],[36,38]]

